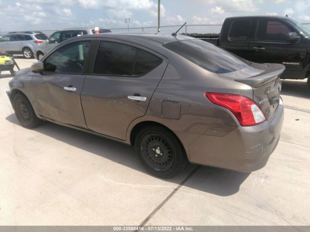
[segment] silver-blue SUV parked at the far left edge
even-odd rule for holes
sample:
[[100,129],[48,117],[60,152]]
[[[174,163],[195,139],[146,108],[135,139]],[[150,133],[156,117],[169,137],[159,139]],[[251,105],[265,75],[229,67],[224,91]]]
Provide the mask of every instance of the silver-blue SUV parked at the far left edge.
[[33,58],[33,51],[47,42],[47,35],[41,31],[10,32],[0,38],[0,50],[9,54],[22,54]]

